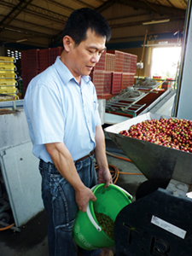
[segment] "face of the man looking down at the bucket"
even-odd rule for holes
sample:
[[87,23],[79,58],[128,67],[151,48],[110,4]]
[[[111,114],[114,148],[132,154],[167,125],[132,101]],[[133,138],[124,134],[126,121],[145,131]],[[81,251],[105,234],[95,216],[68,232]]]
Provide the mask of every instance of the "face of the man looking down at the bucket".
[[69,65],[67,66],[74,78],[89,75],[105,50],[106,38],[96,36],[90,29],[87,38],[75,47],[74,41],[70,49]]

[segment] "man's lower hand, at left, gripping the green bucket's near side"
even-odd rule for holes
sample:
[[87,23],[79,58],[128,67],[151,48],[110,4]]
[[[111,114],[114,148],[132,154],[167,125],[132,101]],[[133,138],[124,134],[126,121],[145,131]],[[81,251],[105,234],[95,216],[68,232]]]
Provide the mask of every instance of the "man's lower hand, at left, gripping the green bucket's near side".
[[89,201],[96,201],[96,196],[93,194],[92,190],[84,187],[84,189],[75,191],[76,202],[79,206],[79,210],[82,212],[86,212],[87,205]]

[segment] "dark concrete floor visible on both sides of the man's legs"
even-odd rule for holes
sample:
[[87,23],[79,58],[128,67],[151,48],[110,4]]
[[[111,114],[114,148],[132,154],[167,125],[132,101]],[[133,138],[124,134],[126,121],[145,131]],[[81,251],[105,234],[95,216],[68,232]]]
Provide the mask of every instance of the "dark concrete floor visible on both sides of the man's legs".
[[[106,139],[107,150],[112,154],[126,157],[119,154],[115,144]],[[113,149],[112,149],[113,148]],[[114,153],[113,151],[116,152]],[[118,151],[119,152],[119,151]],[[119,170],[119,177],[116,182],[118,186],[127,190],[135,201],[135,195],[139,184],[143,183],[146,178],[143,175],[125,175],[120,172],[141,173],[132,163],[119,160],[108,155],[108,164],[116,166]],[[47,245],[47,217],[45,212],[40,212],[38,216],[20,227],[20,232],[13,230],[4,230],[0,232],[0,255],[1,256],[46,256],[48,253]],[[115,253],[115,248],[113,253]],[[70,255],[68,255],[70,256]]]

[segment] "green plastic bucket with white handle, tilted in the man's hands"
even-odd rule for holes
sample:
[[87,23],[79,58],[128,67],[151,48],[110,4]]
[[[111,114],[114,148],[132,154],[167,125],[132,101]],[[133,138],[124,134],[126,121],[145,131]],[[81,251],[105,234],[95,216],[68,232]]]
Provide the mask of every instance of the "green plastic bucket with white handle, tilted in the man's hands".
[[95,212],[104,213],[113,221],[131,203],[132,196],[117,185],[99,184],[92,188],[96,201],[90,201],[86,212],[79,211],[73,225],[73,239],[85,250],[113,247],[114,241],[105,234],[96,220]]

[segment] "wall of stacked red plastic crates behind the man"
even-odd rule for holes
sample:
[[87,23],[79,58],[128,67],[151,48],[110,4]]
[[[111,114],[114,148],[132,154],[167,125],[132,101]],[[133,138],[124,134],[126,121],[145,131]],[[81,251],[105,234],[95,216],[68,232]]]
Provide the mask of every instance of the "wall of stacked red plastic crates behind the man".
[[[44,71],[61,55],[63,48],[32,49],[23,51],[21,68],[24,89],[31,79]],[[100,61],[96,63],[90,78],[96,86],[97,96],[119,94],[127,86],[134,84],[134,74],[137,67],[137,55],[131,55],[119,50],[102,53]],[[30,71],[29,71],[30,68]]]

